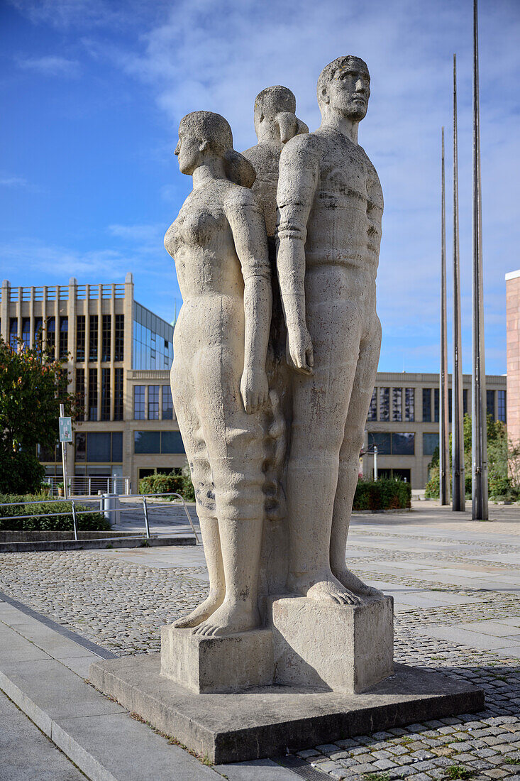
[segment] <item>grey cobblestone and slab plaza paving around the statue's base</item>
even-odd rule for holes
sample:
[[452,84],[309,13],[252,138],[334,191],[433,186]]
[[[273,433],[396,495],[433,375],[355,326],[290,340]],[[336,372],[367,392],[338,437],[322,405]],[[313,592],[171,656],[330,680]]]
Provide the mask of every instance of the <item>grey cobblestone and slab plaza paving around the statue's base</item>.
[[[332,779],[520,781],[520,509],[358,516],[351,569],[394,595],[396,662],[482,686],[486,710],[300,751]],[[201,548],[0,554],[0,590],[118,654],[207,592]]]

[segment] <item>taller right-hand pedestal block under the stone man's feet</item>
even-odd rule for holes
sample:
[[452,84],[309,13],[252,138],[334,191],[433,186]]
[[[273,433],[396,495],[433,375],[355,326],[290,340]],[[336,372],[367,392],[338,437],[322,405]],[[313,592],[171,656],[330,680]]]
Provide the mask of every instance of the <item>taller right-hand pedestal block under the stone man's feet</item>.
[[275,683],[354,694],[394,672],[392,597],[360,605],[274,597],[269,608]]

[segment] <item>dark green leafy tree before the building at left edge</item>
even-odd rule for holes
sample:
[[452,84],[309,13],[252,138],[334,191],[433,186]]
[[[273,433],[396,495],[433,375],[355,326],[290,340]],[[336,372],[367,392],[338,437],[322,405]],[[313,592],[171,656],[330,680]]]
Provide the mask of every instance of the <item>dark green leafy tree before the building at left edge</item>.
[[13,349],[0,337],[0,493],[39,489],[45,470],[37,445],[55,447],[60,404],[66,415],[77,412],[64,360],[55,361],[41,343]]

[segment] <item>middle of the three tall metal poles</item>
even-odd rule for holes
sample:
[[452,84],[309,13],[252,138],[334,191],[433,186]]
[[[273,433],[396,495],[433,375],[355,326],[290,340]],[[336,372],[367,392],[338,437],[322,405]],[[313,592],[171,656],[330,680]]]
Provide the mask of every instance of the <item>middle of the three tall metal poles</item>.
[[461,266],[458,242],[457,55],[453,55],[453,383],[451,391],[451,509],[465,510],[462,404]]

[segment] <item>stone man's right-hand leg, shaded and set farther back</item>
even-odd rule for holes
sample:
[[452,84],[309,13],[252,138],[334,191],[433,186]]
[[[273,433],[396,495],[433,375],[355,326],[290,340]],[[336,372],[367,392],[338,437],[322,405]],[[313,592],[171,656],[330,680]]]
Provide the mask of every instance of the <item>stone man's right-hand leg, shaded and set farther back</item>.
[[330,535],[330,566],[347,589],[360,596],[379,596],[381,592],[367,586],[354,575],[345,561],[348,527],[351,522],[352,502],[358,483],[359,453],[365,434],[365,421],[369,412],[372,389],[376,382],[379,350],[381,347],[381,326],[376,316],[376,326],[359,349],[358,367],[348,405],[344,440],[340,449],[340,468],[334,500],[333,525]]

